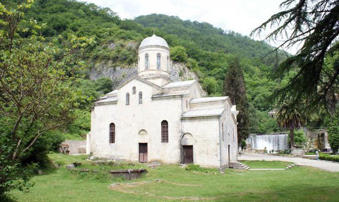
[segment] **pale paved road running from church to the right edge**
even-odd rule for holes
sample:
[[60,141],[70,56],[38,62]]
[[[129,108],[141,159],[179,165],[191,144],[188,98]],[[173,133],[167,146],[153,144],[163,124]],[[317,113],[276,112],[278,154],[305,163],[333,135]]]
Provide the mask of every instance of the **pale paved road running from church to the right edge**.
[[326,161],[317,161],[313,159],[305,159],[298,157],[284,157],[278,155],[262,155],[245,153],[239,156],[238,160],[266,160],[266,161],[289,161],[300,166],[312,166],[323,169],[325,171],[339,172],[339,163],[332,163]]

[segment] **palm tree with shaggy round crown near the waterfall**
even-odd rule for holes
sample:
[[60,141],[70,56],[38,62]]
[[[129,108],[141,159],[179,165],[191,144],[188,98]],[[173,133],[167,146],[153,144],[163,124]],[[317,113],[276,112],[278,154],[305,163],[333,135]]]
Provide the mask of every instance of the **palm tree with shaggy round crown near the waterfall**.
[[306,122],[306,117],[302,113],[301,108],[293,105],[290,100],[283,102],[275,109],[277,123],[281,127],[290,129],[291,150],[294,150],[294,128],[300,127]]

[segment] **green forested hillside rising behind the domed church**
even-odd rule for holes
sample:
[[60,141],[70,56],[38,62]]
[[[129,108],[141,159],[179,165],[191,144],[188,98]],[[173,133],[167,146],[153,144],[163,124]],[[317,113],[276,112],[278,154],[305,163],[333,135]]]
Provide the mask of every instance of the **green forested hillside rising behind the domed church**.
[[[15,7],[16,0],[3,0],[1,3]],[[187,54],[188,58],[180,62],[198,75],[202,87],[210,95],[222,94],[229,62],[238,57],[250,103],[250,125],[258,128],[250,132],[270,132],[273,129],[260,128],[276,127],[275,120],[267,114],[273,106],[267,105],[265,99],[279,85],[286,83],[287,78],[282,81],[269,79],[270,70],[276,65],[276,55],[262,59],[273,49],[267,44],[206,22],[184,21],[177,16],[152,14],[123,20],[108,8],[75,0],[36,0],[23,18],[29,29],[25,34],[30,34],[32,25],[28,22],[34,19],[43,25],[41,34],[46,37],[46,42],[69,34],[95,40],[94,45],[87,47],[82,55],[86,68],[79,72],[82,78],[74,84],[87,99],[85,103],[79,103],[79,110],[86,111],[86,115],[68,126],[66,131],[83,131],[79,132],[82,135],[88,131],[89,108],[93,99],[117,85],[105,78],[92,81],[89,79],[91,72],[100,71],[103,67],[132,67],[137,62],[141,40],[151,36],[154,30],[156,35],[168,42],[173,53],[180,50]],[[283,54],[277,55],[279,60],[283,57]]]

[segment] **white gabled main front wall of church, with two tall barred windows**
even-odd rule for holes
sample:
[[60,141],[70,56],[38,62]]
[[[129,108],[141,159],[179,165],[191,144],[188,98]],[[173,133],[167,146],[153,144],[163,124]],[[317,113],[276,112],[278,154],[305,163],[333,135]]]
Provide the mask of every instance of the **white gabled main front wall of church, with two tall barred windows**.
[[[136,94],[132,94],[132,87]],[[142,90],[143,103],[139,104]],[[125,95],[130,94],[130,105]],[[160,90],[137,79],[131,80],[118,91],[116,105],[96,105],[92,115],[92,152],[96,156],[139,160],[139,142],[148,143],[148,161],[164,163],[180,161],[181,96],[152,100]],[[169,104],[170,103],[170,104]],[[161,121],[169,123],[169,142],[161,143]],[[115,143],[109,143],[109,124],[115,124]],[[139,135],[144,129],[147,135]]]

